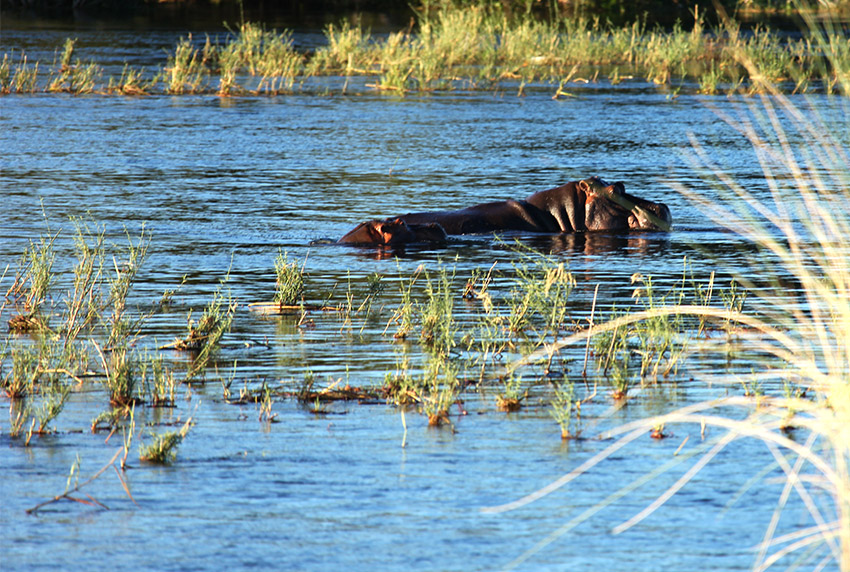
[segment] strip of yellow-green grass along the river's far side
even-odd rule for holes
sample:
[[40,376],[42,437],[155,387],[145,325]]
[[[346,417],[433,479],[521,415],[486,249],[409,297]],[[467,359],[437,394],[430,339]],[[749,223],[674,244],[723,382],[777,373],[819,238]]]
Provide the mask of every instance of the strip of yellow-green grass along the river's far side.
[[[53,62],[4,54],[0,93],[278,95],[347,92],[355,78],[365,78],[358,89],[399,94],[522,94],[536,86],[559,97],[577,83],[633,79],[707,94],[761,92],[766,82],[787,92],[844,94],[850,77],[846,35],[821,24],[791,37],[764,27],[745,31],[731,20],[709,29],[698,10],[686,27],[672,29],[641,21],[617,27],[587,17],[540,20],[492,6],[442,5],[423,14],[415,26],[380,36],[348,22],[329,25],[325,45],[310,51],[297,48],[292,31],[246,23],[221,41],[181,40],[158,70],[125,66],[120,77],[109,78],[97,62],[77,58],[68,39]],[[741,65],[740,54],[749,66]],[[344,81],[318,81],[327,77]]]

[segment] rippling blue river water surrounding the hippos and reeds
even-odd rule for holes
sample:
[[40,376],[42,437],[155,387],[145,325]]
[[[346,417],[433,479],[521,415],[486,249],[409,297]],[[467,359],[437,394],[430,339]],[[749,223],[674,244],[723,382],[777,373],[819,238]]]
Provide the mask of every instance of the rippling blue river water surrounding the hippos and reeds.
[[[81,57],[95,57],[112,73],[124,61],[162,64],[163,50],[179,37],[4,30],[2,49],[24,48],[30,58],[50,62],[68,36],[78,38]],[[734,442],[658,512],[624,533],[611,532],[679,478],[694,462],[690,454],[719,436],[709,430],[703,440],[699,426],[671,427],[663,440],[647,433],[569,486],[515,511],[481,510],[587,461],[611,444],[600,437],[607,428],[741,394],[733,373],[728,383],[712,375],[726,371],[723,362],[696,360],[675,379],[636,391],[622,408],[612,409],[600,392],[583,406],[586,438],[566,442],[541,393],[505,414],[493,391],[467,391],[467,414],[454,407],[452,428],[429,428],[415,409],[382,403],[335,403],[316,414],[284,398],[273,404],[276,422],[267,423],[258,420],[258,405],[227,403],[219,381],[232,379],[234,389],[294,388],[312,372],[323,386],[334,380],[378,386],[398,364],[401,344],[382,333],[386,313],[346,329],[336,315],[321,312],[299,327],[291,316],[249,311],[248,303],[271,299],[281,250],[306,259],[310,301],[338,303],[349,287],[362,294],[377,272],[386,284],[378,304],[387,307],[397,303],[399,281],[420,265],[467,276],[495,262],[509,276],[521,257],[493,237],[389,256],[310,246],[368,218],[520,198],[591,175],[667,203],[675,222],[670,233],[522,237],[576,277],[570,318],[576,322],[586,322],[597,285],[601,307],[630,304],[635,272],[663,289],[681,279],[685,257],[698,281],[707,282],[713,270],[720,277],[744,268],[752,247],[671,187],[716,193],[690,164],[693,136],[727,173],[767,196],[749,143],[718,119],[718,109],[738,113],[741,100],[693,89],[671,93],[637,80],[572,84],[572,97],[558,100],[551,86],[528,87],[523,97],[510,86],[397,97],[370,90],[364,80],[341,95],[341,79],[326,81],[327,93],[280,97],[0,98],[0,267],[9,264],[13,273],[29,241],[58,231],[55,268],[59,284],[67,284],[74,261],[69,217],[90,217],[111,242],[126,241],[125,229],[137,236],[144,225],[152,242],[131,303],[147,311],[165,290],[177,293],[169,308],[148,319],[140,347],[154,351],[185,334],[189,310],[199,314],[225,277],[240,303],[220,374],[178,387],[173,408],[137,410],[139,428],[162,431],[190,416],[195,425],[170,466],[140,463],[137,443],[131,446],[126,480],[135,504],[110,469],[84,489],[110,510],[64,502],[25,513],[63,492],[75,459],[82,481],[121,446],[120,434],[107,439],[89,430],[108,408],[99,383],[73,393],[53,423],[56,432],[35,437],[29,447],[9,437],[4,416],[3,570],[749,569],[782,490],[773,480],[781,473],[758,441]],[[841,114],[827,98],[818,105]],[[7,276],[3,288],[9,283]],[[463,304],[456,301],[459,314]],[[411,351],[415,359],[419,354]],[[576,380],[583,353],[573,356]],[[164,354],[178,367],[186,360]],[[624,485],[675,459],[681,465],[607,503]],[[584,518],[592,507],[598,510]],[[807,526],[808,518],[791,502],[782,530]],[[815,561],[825,554],[818,550]]]

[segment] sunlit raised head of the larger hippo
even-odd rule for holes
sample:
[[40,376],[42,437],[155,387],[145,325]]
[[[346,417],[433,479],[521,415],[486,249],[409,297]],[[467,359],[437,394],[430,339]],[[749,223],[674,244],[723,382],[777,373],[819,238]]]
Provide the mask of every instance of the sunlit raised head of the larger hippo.
[[578,182],[584,192],[587,230],[670,230],[673,216],[662,203],[626,192],[623,183],[608,184],[598,177]]

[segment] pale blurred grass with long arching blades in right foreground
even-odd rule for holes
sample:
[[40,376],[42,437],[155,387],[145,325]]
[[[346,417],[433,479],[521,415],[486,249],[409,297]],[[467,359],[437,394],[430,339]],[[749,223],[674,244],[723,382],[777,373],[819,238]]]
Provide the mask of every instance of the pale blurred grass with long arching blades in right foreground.
[[[655,307],[617,318],[602,326],[613,330],[640,320],[662,316],[693,315],[736,325],[740,350],[758,368],[758,384],[776,380],[802,388],[800,392],[757,397],[729,396],[680,408],[669,414],[635,421],[606,433],[612,444],[549,486],[519,501],[488,509],[512,510],[565,486],[629,443],[658,427],[674,424],[711,426],[717,437],[685,451],[696,461],[682,472],[657,499],[614,527],[625,531],[658,510],[690,482],[706,464],[734,441],[754,438],[763,442],[784,477],[777,509],[757,548],[754,568],[766,569],[791,559],[794,565],[824,567],[834,562],[850,569],[850,150],[842,122],[822,115],[810,102],[795,103],[783,96],[775,81],[762,75],[758,62],[746,52],[736,54],[741,66],[759,83],[757,91],[770,94],[750,101],[735,116],[725,119],[751,144],[760,161],[768,193],[759,195],[718,165],[712,154],[694,140],[693,166],[710,181],[716,195],[679,190],[700,206],[716,224],[759,246],[750,267],[736,274],[747,297],[747,314],[704,305]],[[835,62],[837,67],[842,62]],[[838,130],[838,131],[837,131]],[[765,280],[758,280],[764,277]],[[797,288],[785,286],[788,277]],[[571,336],[564,347],[583,340]],[[725,351],[725,340],[708,340],[700,351]],[[764,363],[764,356],[771,356]],[[806,397],[809,395],[810,397]],[[743,415],[738,412],[744,413]],[[806,432],[789,438],[787,427]],[[704,429],[701,431],[705,436]],[[646,480],[681,466],[673,459],[602,500],[572,519],[557,532],[520,555],[509,568],[542,550],[548,543],[590,518]],[[753,478],[758,479],[760,475]],[[796,494],[809,511],[811,524],[798,524],[788,534],[779,533],[784,507]],[[828,501],[827,501],[828,498]],[[828,506],[826,506],[828,505]],[[818,550],[820,549],[820,550]]]

